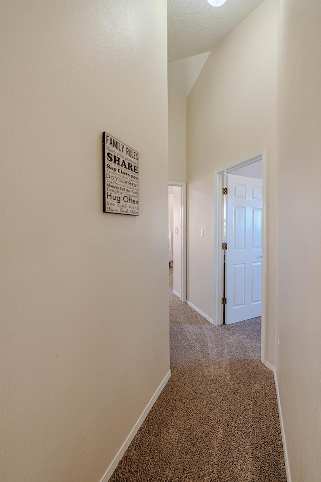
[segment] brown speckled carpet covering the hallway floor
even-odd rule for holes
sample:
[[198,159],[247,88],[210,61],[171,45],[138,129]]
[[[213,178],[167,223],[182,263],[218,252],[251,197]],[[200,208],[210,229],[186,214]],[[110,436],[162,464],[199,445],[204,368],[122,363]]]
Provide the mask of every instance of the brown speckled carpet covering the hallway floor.
[[172,293],[171,271],[172,377],[110,480],[286,481],[260,318],[211,325]]

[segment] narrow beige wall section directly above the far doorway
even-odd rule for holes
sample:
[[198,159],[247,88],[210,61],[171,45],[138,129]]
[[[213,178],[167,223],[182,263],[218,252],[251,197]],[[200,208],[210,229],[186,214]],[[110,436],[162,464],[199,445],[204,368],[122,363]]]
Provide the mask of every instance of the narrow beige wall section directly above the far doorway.
[[186,98],[169,90],[169,180],[186,182]]

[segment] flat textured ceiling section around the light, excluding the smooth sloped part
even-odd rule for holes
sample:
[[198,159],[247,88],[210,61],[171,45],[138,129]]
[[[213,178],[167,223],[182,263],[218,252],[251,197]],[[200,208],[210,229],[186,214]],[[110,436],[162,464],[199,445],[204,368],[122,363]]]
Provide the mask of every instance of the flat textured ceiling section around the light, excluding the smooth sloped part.
[[168,61],[208,52],[263,0],[168,0]]

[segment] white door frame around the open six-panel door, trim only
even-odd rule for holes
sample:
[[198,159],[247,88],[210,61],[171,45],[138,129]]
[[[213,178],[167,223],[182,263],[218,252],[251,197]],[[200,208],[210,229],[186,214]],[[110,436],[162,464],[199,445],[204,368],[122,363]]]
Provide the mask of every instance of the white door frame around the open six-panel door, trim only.
[[232,173],[235,169],[262,161],[262,315],[261,315],[261,362],[265,364],[265,340],[266,340],[266,148],[260,149],[248,156],[238,159],[214,171],[214,313],[216,326],[223,324],[223,195],[224,175]]

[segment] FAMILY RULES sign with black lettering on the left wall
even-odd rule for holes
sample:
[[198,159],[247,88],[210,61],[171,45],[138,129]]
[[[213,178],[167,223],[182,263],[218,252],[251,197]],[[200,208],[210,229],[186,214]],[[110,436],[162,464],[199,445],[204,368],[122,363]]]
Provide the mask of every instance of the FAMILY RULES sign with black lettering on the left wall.
[[138,216],[138,152],[107,132],[102,146],[104,212]]

